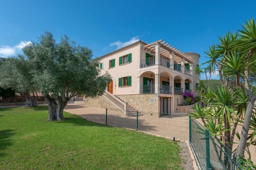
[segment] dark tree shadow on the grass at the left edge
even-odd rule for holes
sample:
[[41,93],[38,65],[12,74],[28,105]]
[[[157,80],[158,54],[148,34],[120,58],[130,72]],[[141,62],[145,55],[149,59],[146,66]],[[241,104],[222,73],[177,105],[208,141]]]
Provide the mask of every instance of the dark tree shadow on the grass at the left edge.
[[14,131],[10,129],[0,130],[0,157],[5,155],[2,152],[2,150],[12,145],[11,137],[14,134],[15,134]]

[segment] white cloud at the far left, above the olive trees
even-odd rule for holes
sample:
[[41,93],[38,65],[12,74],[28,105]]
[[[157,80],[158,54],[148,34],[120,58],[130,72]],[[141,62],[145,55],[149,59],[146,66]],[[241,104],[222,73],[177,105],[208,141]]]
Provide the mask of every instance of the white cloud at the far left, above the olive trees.
[[0,47],[0,56],[1,57],[8,57],[11,55],[15,55],[21,51],[22,48],[24,48],[27,45],[30,45],[31,41],[20,41],[18,45],[15,45],[13,47],[10,46],[2,46]]

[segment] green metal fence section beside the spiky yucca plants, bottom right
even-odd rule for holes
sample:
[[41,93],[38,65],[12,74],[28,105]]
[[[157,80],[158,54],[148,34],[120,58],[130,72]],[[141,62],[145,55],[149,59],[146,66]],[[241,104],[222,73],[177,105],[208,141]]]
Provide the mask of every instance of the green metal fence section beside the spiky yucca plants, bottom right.
[[231,158],[231,150],[212,137],[196,120],[189,117],[189,143],[200,169],[242,169]]

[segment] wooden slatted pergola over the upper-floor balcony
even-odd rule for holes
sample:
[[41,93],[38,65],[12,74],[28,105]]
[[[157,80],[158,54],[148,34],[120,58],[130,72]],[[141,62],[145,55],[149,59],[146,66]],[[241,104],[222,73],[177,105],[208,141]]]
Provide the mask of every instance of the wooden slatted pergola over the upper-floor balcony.
[[193,63],[193,58],[185,53],[180,52],[180,50],[169,45],[169,43],[166,43],[163,41],[163,39],[157,40],[154,43],[147,44],[143,46],[142,49],[147,50],[151,54],[155,54],[156,45],[159,45],[160,56],[166,60],[170,60],[171,54],[173,54],[173,61],[177,63],[180,63],[183,60],[187,61],[186,63]]

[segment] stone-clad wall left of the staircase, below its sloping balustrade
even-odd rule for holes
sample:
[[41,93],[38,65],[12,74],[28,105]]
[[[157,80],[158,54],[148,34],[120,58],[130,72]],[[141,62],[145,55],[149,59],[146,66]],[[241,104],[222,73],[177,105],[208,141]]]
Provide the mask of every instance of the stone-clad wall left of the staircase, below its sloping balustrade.
[[92,106],[92,107],[100,107],[100,108],[108,108],[111,111],[120,111],[118,107],[113,105],[108,99],[103,96],[98,98],[85,98],[84,100],[85,106]]

